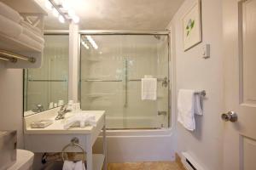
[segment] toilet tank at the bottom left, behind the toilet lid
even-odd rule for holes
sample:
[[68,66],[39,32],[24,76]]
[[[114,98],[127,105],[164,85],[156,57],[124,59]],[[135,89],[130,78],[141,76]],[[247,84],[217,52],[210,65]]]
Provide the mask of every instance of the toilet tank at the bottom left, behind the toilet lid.
[[16,161],[17,132],[0,130],[0,170],[7,169]]

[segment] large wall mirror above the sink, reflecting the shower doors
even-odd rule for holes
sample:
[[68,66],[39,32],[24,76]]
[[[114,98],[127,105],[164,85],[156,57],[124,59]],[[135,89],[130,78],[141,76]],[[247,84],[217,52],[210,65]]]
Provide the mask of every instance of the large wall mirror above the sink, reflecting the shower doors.
[[24,116],[67,103],[68,35],[44,35],[41,68],[24,71]]

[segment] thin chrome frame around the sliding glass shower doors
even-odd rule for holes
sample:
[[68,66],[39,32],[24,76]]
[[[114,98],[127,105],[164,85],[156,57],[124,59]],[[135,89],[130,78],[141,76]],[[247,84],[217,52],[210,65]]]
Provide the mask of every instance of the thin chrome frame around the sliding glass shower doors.
[[[171,128],[173,122],[171,118],[173,117],[171,115],[172,111],[172,95],[170,91],[172,90],[172,85],[171,85],[171,80],[172,80],[172,56],[171,56],[171,31],[166,30],[166,31],[131,31],[131,30],[80,30],[79,31],[79,94],[78,98],[79,101],[81,101],[81,36],[83,35],[90,35],[90,36],[98,36],[98,35],[163,35],[167,36],[167,45],[168,45],[168,113],[167,113],[167,119],[168,119],[168,127],[166,128]],[[80,104],[81,105],[81,104]],[[160,128],[155,128],[155,127],[147,127],[147,128],[114,128],[114,129],[109,129],[108,130],[143,130],[143,129],[160,129]]]

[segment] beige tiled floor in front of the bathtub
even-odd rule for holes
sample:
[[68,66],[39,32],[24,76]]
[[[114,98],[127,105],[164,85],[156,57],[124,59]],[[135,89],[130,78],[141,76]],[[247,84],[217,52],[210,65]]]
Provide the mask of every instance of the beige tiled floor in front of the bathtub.
[[108,170],[184,170],[176,161],[109,163]]

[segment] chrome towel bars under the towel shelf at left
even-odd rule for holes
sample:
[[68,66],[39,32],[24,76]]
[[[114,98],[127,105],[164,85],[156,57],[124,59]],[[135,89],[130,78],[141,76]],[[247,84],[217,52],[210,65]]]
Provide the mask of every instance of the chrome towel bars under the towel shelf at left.
[[3,50],[3,49],[0,49],[0,59],[10,61],[12,63],[17,62],[18,59],[26,60],[31,63],[35,63],[37,60],[34,57],[26,57],[24,55],[15,54],[15,53]]

